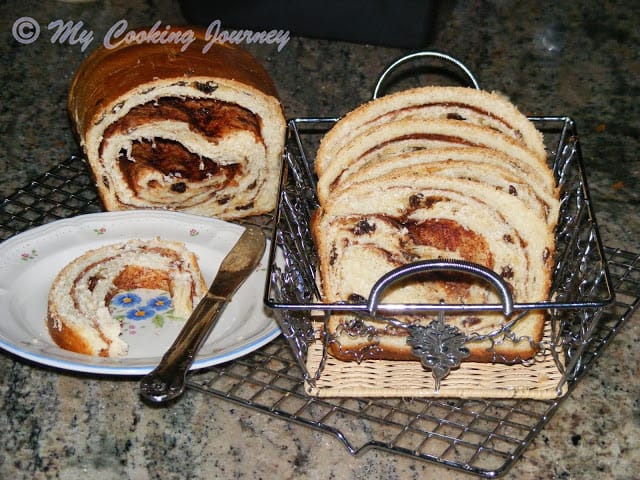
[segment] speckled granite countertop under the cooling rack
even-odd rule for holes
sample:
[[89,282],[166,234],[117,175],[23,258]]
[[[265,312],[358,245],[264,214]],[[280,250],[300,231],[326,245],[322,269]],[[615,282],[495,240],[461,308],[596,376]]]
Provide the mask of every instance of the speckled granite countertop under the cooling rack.
[[[21,44],[14,22],[41,37]],[[107,29],[184,22],[168,0],[0,3],[0,193],[78,151],[65,111],[73,72]],[[51,41],[58,19],[95,40]],[[578,125],[604,243],[640,252],[640,9],[626,2],[447,3],[429,47],[463,60],[481,85],[530,114]],[[288,117],[336,116],[370,96],[406,50],[292,37],[247,46],[269,70]],[[0,313],[2,315],[2,313]],[[640,471],[638,315],[526,449],[506,478],[636,478]],[[170,408],[145,405],[135,379],[65,373],[0,352],[0,478],[470,478],[383,451],[353,457],[333,437],[188,391]]]

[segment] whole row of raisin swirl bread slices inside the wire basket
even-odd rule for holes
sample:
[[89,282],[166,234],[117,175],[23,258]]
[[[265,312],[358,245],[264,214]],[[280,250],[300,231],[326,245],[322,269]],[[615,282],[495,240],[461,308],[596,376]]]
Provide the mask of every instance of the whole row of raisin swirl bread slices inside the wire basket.
[[[362,301],[390,270],[442,258],[490,268],[516,302],[547,299],[559,202],[542,136],[504,97],[467,90],[382,97],[325,136],[312,218],[324,301]],[[499,303],[486,282],[452,272],[394,284],[381,300]],[[435,313],[398,318],[426,325]],[[535,355],[545,318],[451,313],[446,322],[467,338],[467,361],[516,363]],[[384,320],[332,315],[328,334],[339,359],[416,359],[406,329]]]

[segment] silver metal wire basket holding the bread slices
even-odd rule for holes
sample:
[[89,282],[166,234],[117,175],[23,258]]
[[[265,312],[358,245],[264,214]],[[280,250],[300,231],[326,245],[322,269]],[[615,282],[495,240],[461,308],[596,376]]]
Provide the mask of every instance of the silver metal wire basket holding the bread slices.
[[[412,59],[413,57],[408,58],[408,60]],[[450,57],[446,59],[449,60]],[[394,62],[390,69],[383,73],[376,85],[374,98],[379,94],[381,84],[391,70],[405,61],[407,61],[406,57]],[[468,70],[464,73],[477,87],[478,83],[471,73]],[[442,318],[445,313],[466,311],[474,307],[480,311],[504,311],[506,314],[513,310],[520,312],[521,315],[531,310],[547,310],[551,322],[541,349],[546,354],[546,360],[553,362],[559,375],[553,379],[549,378],[546,372],[540,375],[545,376],[547,381],[555,383],[555,392],[550,393],[547,390],[545,394],[562,395],[566,392],[563,387],[575,376],[580,367],[581,354],[585,344],[588,343],[590,332],[595,328],[603,307],[613,300],[614,294],[597,223],[591,208],[575,122],[570,117],[560,116],[532,117],[530,120],[544,134],[549,162],[561,191],[560,218],[556,233],[557,255],[550,295],[552,300],[513,303],[509,298],[508,289],[504,285],[502,289],[500,288],[501,280],[498,275],[491,277],[492,272],[480,271],[474,273],[484,275],[489,280],[493,279],[499,290],[506,291],[502,294],[502,304],[475,306],[403,304],[386,307],[379,304],[380,291],[382,286],[387,284],[385,278],[379,280],[372,288],[369,298],[363,301],[323,303],[319,300],[320,293],[316,281],[318,254],[310,226],[313,212],[319,206],[315,193],[313,153],[319,139],[331,128],[336,119],[299,118],[289,122],[286,162],[282,171],[280,199],[271,244],[265,303],[278,312],[277,318],[281,329],[291,345],[294,356],[300,362],[310,393],[322,394],[317,389],[318,379],[323,374],[326,375],[327,371],[333,371],[327,370],[326,342],[330,335],[326,331],[318,334],[318,329],[324,328],[318,325],[326,324],[328,315],[348,312],[354,315],[378,317],[379,309],[385,308],[384,318],[393,321],[394,315],[431,311],[439,312],[438,318]],[[391,275],[395,275],[394,278],[403,278],[403,275],[412,275],[414,271],[422,272],[424,268],[433,267],[434,264],[442,262],[423,263],[425,263],[424,266],[409,264]],[[461,266],[460,262],[449,262],[438,266],[444,269],[466,267]],[[400,326],[407,328],[406,324]],[[509,327],[493,334],[504,334],[507,328]],[[411,335],[413,333],[410,332],[410,338]],[[321,352],[318,353],[318,343],[321,341],[324,341],[325,345],[320,347]],[[310,361],[312,350],[317,358]],[[347,368],[354,367],[345,367],[345,370]],[[435,372],[437,368],[439,368],[438,365],[432,370]],[[416,373],[418,372],[408,372],[407,375],[415,376]],[[512,370],[511,373],[514,378],[521,376],[521,372],[516,370]],[[447,369],[444,375],[448,374]],[[396,373],[389,371],[389,375],[396,375]],[[439,393],[441,378],[442,376],[434,373],[435,393]],[[538,380],[535,381],[538,382]],[[393,391],[398,391],[398,388],[399,385],[392,385],[386,394],[381,393],[381,395],[393,395]],[[503,392],[511,396],[512,389],[509,388],[505,388]],[[496,394],[494,390],[478,389],[476,395],[491,396]],[[412,395],[429,394],[420,390],[401,389],[401,391]],[[340,394],[339,392],[338,389],[332,389],[327,395],[337,395]],[[468,388],[449,390],[448,393],[456,396],[457,392],[473,394],[473,391]],[[347,394],[354,394],[354,390],[349,390]],[[373,393],[371,390],[365,390],[364,394],[372,395]]]

